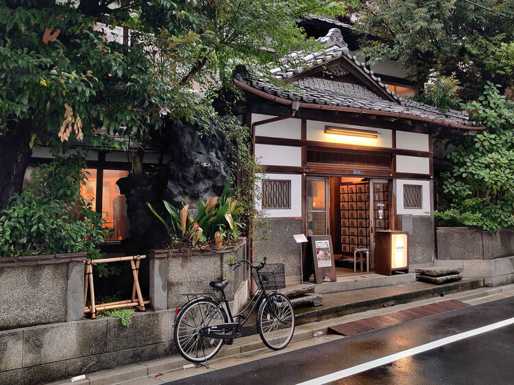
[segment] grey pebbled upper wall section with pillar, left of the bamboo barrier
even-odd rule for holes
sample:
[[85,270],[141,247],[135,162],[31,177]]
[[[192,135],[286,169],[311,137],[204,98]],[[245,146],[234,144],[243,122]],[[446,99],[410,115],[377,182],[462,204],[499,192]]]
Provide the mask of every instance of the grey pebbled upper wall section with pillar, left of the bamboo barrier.
[[84,260],[85,253],[0,258],[0,330],[82,319]]

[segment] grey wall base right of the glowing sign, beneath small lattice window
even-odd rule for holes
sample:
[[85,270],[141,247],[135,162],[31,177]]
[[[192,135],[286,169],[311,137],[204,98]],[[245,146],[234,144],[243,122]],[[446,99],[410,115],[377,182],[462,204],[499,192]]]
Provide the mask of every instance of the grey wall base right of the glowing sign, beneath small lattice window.
[[402,215],[402,230],[408,234],[409,264],[434,260],[434,228],[430,216]]

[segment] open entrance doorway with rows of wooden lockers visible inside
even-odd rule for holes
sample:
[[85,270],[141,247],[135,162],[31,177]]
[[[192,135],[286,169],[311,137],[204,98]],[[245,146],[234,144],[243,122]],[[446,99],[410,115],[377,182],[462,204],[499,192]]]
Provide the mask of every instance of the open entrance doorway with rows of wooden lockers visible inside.
[[[337,275],[354,274],[356,249],[369,249],[369,270],[374,268],[374,232],[390,228],[389,188],[388,179],[306,178],[307,235],[332,236]],[[358,269],[356,273],[363,272]]]

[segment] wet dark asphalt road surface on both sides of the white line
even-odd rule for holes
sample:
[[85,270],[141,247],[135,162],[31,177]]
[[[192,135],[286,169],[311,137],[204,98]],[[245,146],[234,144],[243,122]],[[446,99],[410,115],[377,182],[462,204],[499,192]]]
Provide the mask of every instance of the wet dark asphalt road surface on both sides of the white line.
[[[429,316],[169,384],[297,384],[514,317],[514,297]],[[514,325],[402,358],[336,384],[513,384]]]

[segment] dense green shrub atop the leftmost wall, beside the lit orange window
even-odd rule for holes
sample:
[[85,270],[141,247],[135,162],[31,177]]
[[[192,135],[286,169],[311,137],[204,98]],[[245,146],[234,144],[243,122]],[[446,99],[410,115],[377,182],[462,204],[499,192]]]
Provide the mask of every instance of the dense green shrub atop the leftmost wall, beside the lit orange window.
[[108,230],[101,214],[80,195],[85,166],[84,155],[77,153],[58,156],[32,174],[28,188],[0,211],[1,256],[77,251],[97,256],[95,244]]

